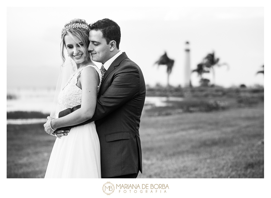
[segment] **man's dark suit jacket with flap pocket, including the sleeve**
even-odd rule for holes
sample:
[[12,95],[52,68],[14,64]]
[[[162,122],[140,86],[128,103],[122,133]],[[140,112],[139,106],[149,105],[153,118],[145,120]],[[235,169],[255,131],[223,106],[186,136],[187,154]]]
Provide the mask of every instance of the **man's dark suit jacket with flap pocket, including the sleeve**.
[[[79,124],[95,121],[102,177],[142,172],[139,123],[145,95],[141,69],[123,52],[104,75],[92,119]],[[61,111],[59,117],[78,108],[80,105]]]

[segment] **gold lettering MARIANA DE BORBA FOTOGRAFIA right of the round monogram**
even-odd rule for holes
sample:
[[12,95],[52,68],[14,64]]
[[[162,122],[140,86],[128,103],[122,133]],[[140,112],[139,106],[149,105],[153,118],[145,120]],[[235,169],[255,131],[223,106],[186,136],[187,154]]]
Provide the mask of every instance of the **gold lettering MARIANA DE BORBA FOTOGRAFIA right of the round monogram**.
[[116,184],[119,193],[167,193],[167,184]]

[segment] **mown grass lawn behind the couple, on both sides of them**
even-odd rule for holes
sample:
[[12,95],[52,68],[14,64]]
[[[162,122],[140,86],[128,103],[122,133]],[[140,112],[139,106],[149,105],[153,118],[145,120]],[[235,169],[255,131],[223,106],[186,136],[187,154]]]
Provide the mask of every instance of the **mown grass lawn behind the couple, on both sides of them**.
[[[138,178],[263,178],[263,109],[143,114]],[[7,178],[43,178],[54,141],[43,124],[7,125]]]

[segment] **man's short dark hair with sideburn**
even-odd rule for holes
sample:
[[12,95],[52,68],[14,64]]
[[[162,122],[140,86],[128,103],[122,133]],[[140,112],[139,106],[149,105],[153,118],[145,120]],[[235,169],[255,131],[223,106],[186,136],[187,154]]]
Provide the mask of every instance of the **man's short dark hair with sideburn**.
[[116,41],[117,49],[120,46],[120,26],[113,20],[102,19],[89,25],[90,30],[100,30],[107,44]]

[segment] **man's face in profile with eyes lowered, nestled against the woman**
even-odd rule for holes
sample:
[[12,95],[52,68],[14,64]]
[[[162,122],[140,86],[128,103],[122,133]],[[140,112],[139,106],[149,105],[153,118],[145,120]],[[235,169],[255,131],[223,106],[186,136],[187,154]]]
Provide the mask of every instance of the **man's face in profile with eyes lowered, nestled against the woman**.
[[104,64],[110,59],[110,42],[107,44],[100,30],[89,31],[89,47],[92,60]]

